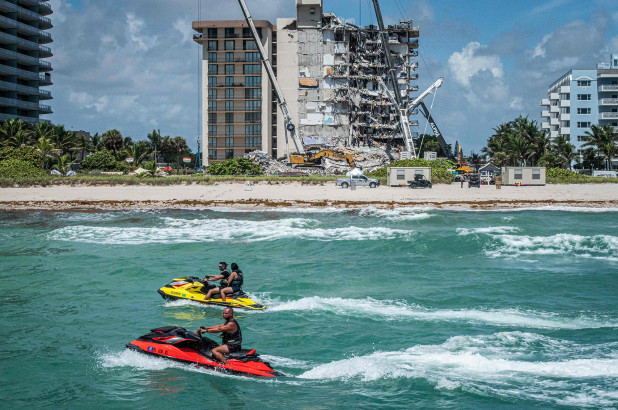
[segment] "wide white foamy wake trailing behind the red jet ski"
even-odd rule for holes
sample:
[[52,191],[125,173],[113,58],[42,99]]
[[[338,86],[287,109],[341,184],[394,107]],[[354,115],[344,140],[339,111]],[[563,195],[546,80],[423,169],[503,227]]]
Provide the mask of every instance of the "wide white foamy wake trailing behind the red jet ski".
[[618,343],[582,346],[524,332],[454,336],[439,345],[336,360],[298,377],[344,382],[417,378],[437,389],[483,396],[615,406],[617,349]]

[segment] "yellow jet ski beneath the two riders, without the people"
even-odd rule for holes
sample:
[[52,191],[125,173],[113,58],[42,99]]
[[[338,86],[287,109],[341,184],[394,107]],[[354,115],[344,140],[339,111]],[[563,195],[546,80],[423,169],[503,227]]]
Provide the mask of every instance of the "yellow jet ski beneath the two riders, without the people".
[[214,298],[206,299],[206,292],[215,285],[204,283],[195,276],[182,276],[172,280],[167,285],[158,290],[159,295],[167,300],[187,299],[195,302],[204,303],[206,305],[230,306],[233,308],[262,310],[265,305],[255,303],[247,297],[242,290],[236,293],[225,295],[225,302],[221,296],[216,295]]

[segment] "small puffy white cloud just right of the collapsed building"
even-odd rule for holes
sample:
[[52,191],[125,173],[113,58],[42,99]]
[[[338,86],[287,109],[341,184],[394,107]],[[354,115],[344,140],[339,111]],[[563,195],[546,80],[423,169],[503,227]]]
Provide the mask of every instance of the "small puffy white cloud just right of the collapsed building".
[[489,71],[495,78],[502,78],[504,74],[500,57],[496,55],[477,55],[483,50],[483,46],[477,42],[468,43],[461,53],[455,52],[448,59],[448,65],[455,80],[469,86],[470,79],[481,71]]

